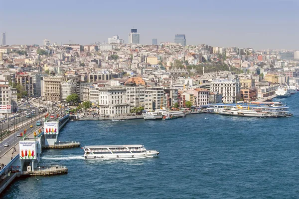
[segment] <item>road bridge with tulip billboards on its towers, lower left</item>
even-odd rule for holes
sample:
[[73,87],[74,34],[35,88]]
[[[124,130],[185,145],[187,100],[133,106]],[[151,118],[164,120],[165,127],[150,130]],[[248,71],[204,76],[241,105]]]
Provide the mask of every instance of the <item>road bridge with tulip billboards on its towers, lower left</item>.
[[[28,131],[22,137],[16,137],[13,134],[1,142],[0,147],[3,149],[1,150],[0,148],[0,150],[3,152],[0,154],[0,193],[16,177],[58,175],[68,172],[68,168],[65,166],[39,164],[42,148],[72,148],[80,146],[80,142],[76,141],[57,141],[59,130],[68,121],[69,115],[60,118],[59,121],[46,119],[43,127],[31,128],[31,131]],[[25,126],[25,128],[30,129],[34,122],[35,120],[29,123],[28,126]],[[54,125],[51,130],[49,125]],[[57,134],[53,134],[54,128],[58,129],[55,129]],[[22,133],[22,131],[19,130],[17,133]],[[50,131],[52,134],[50,134]],[[8,142],[11,139],[13,141]],[[3,146],[4,143],[9,143],[9,146],[5,148]]]

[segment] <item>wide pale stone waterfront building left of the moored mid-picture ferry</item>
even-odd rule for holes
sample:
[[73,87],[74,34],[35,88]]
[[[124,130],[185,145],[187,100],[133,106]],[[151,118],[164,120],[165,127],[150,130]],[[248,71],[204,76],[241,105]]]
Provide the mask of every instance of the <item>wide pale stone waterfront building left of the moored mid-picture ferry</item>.
[[118,115],[130,113],[130,104],[126,102],[127,89],[124,86],[109,86],[99,88],[99,113]]

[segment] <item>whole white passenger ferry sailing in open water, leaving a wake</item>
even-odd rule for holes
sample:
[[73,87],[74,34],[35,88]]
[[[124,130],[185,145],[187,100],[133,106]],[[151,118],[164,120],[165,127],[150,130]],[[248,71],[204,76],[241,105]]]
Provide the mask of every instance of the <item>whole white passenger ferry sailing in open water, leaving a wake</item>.
[[94,145],[84,146],[85,159],[132,159],[153,156],[160,152],[147,150],[143,145]]

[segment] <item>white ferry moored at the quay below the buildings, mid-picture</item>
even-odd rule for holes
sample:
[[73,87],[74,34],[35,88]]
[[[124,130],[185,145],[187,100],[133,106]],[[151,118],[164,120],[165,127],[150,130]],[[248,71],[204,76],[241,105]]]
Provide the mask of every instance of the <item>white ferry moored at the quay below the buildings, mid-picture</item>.
[[149,111],[144,112],[142,115],[145,120],[161,120],[163,116],[167,116],[167,115],[172,115],[178,118],[185,117],[186,113],[184,113],[183,111],[171,111],[162,108],[162,109],[156,109],[152,112]]

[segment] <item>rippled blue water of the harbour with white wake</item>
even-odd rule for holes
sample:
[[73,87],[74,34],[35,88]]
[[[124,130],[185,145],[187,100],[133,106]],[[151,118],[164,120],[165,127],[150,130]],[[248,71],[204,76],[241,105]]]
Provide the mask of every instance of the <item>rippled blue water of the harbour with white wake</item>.
[[292,118],[188,115],[170,121],[69,122],[60,140],[144,144],[161,153],[85,160],[81,148],[45,150],[67,175],[15,181],[4,199],[298,199],[299,94],[281,99]]

